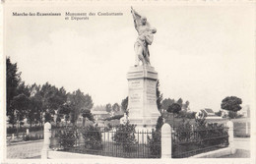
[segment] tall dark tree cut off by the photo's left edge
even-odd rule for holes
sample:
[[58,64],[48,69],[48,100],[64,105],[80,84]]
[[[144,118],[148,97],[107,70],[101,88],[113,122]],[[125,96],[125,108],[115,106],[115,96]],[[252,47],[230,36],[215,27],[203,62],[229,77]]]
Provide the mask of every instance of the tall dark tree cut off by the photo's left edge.
[[17,95],[17,87],[21,82],[21,73],[18,72],[17,63],[12,64],[10,58],[6,59],[6,114],[9,116],[9,123],[15,124],[14,108],[11,101]]

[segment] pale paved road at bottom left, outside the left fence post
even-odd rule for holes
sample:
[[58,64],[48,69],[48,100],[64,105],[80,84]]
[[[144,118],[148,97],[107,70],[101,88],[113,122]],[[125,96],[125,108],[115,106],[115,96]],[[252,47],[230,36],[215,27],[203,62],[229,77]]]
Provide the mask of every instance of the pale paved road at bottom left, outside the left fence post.
[[7,146],[7,158],[28,159],[40,158],[43,141],[32,141]]

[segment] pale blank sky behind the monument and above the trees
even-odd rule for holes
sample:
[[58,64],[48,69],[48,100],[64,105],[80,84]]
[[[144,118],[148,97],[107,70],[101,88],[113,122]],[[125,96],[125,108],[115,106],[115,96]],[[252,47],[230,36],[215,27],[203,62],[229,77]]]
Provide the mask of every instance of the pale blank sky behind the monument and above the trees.
[[[221,109],[226,96],[254,103],[254,5],[134,6],[158,32],[150,46],[164,98],[190,108]],[[8,7],[5,54],[17,62],[27,84],[50,82],[80,88],[95,105],[120,103],[128,95],[126,74],[134,65],[130,5]],[[61,12],[61,17],[14,17],[12,12]],[[121,12],[88,21],[65,21],[65,12]]]

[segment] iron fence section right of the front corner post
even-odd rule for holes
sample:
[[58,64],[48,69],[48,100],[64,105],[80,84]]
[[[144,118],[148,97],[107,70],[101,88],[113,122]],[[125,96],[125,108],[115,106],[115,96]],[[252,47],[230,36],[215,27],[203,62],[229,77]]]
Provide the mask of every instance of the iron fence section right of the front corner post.
[[172,158],[184,158],[199,153],[224,148],[228,145],[228,128],[205,128],[196,130],[173,129]]

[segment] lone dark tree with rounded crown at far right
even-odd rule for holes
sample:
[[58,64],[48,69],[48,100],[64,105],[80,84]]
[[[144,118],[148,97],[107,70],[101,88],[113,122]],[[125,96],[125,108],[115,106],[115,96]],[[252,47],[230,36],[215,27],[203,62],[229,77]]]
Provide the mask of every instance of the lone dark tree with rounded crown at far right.
[[236,96],[227,96],[223,99],[221,107],[222,109],[228,111],[229,118],[234,118],[235,115],[233,113],[241,110],[240,104],[242,104],[241,98],[238,98]]

